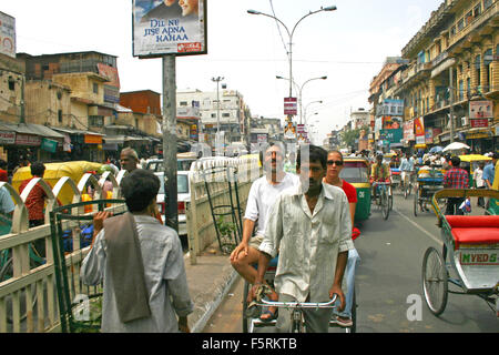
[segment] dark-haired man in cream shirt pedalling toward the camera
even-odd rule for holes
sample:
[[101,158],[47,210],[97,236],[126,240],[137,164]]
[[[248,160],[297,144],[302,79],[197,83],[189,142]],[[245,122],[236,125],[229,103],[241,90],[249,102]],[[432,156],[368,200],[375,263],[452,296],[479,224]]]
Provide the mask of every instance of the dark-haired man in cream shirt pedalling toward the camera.
[[[337,294],[338,311],[343,311],[342,281],[353,247],[348,201],[342,189],[323,183],[327,152],[312,144],[308,150],[308,154],[302,150],[297,154],[301,183],[283,192],[271,207],[251,297],[258,293],[268,262],[279,252],[274,282],[279,301],[327,302]],[[291,332],[292,312],[279,308],[278,332]],[[327,333],[330,308],[303,312],[307,332]]]

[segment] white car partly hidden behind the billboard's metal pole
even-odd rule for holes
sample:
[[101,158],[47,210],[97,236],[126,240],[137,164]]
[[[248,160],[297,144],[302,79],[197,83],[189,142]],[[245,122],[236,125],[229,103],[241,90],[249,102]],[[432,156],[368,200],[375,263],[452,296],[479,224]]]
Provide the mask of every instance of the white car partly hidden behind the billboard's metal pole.
[[[162,217],[164,216],[165,211],[165,201],[164,201],[164,173],[156,172],[154,173],[157,178],[160,178],[161,186],[157,192],[156,203],[160,207],[160,212]],[[185,204],[191,200],[191,183],[189,181],[189,171],[179,171],[176,172],[176,201],[179,206],[179,235],[187,235],[187,219],[185,216]],[[164,217],[163,217],[164,219]]]

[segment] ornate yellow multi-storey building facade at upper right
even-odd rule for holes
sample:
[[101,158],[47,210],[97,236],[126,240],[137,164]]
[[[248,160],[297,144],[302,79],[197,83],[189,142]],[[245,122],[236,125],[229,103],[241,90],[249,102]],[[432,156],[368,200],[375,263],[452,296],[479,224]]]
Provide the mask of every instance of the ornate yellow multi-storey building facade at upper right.
[[404,101],[410,149],[460,141],[497,151],[499,2],[446,0],[401,50],[409,61],[393,85]]

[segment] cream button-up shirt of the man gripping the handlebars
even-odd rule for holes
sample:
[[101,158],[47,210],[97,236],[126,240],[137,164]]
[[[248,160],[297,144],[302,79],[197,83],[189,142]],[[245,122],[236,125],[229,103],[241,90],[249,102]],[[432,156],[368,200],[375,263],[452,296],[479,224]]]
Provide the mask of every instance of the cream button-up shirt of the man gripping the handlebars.
[[283,192],[271,207],[259,250],[279,252],[275,286],[298,302],[325,302],[333,286],[339,252],[354,248],[345,192],[323,183],[314,213],[302,186]]

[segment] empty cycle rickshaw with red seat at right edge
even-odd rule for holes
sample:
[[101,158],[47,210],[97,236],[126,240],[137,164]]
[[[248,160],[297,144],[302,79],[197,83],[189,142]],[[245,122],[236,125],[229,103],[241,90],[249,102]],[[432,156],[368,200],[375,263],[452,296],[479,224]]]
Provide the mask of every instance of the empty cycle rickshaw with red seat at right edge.
[[[444,215],[438,200],[483,196],[499,199],[495,190],[445,189],[435,193],[442,252],[429,247],[422,260],[422,291],[430,312],[438,316],[448,293],[473,294],[499,317],[499,215]],[[459,291],[449,290],[449,285]]]

